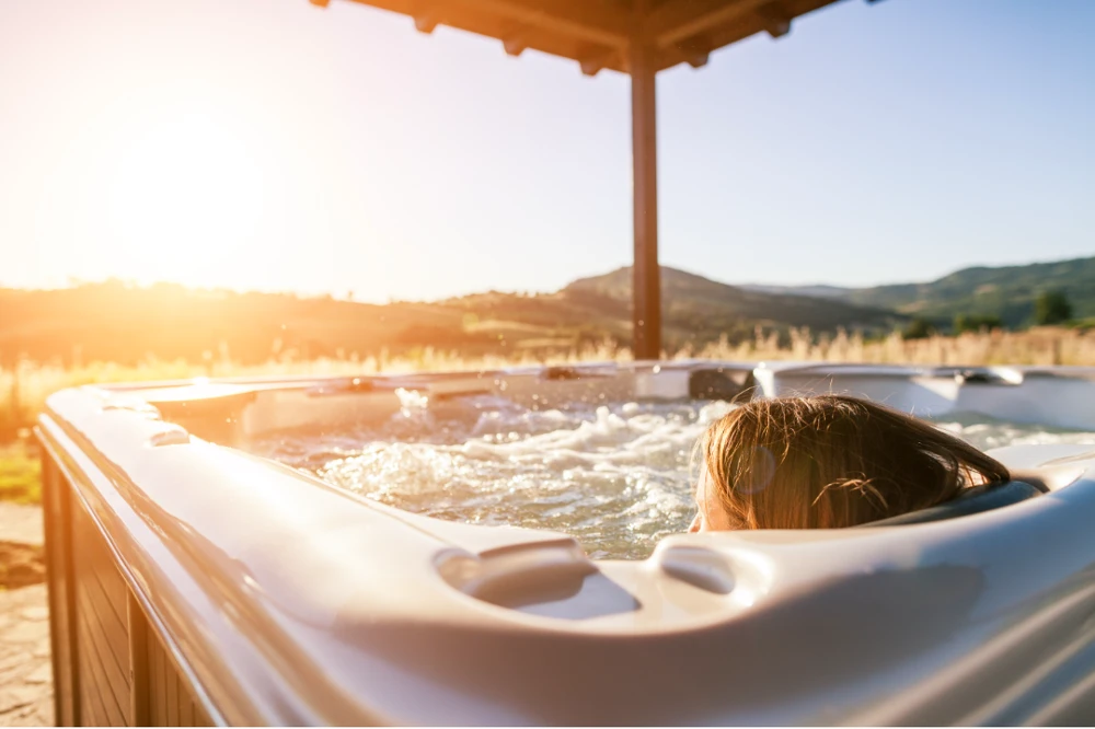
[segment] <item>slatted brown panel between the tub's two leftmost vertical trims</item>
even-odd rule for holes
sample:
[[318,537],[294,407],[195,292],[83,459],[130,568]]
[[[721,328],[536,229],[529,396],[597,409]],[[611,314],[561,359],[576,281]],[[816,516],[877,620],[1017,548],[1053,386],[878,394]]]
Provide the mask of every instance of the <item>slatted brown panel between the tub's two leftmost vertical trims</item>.
[[[83,724],[129,724],[129,630],[122,618],[125,581],[114,565],[105,537],[73,500],[71,512],[73,593],[77,652],[80,660],[81,705],[91,714]],[[90,721],[94,717],[93,721]]]

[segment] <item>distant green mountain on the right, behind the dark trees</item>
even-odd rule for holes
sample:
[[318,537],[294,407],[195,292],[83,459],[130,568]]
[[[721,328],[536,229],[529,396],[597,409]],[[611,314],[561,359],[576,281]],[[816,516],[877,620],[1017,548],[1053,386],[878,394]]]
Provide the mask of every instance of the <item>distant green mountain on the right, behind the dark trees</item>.
[[1006,326],[1033,323],[1034,302],[1047,290],[1068,296],[1076,319],[1095,316],[1095,257],[1024,266],[975,266],[925,284],[871,288],[746,286],[747,290],[835,299],[949,323],[957,314],[991,314]]

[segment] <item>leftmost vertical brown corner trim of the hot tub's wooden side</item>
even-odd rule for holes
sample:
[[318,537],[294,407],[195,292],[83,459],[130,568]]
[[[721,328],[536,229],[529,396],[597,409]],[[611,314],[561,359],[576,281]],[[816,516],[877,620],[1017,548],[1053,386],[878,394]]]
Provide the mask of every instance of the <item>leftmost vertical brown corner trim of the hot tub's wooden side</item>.
[[69,531],[71,487],[53,458],[42,451],[43,517],[49,597],[49,647],[53,657],[54,720],[71,727],[80,721],[76,630],[72,627],[72,560]]

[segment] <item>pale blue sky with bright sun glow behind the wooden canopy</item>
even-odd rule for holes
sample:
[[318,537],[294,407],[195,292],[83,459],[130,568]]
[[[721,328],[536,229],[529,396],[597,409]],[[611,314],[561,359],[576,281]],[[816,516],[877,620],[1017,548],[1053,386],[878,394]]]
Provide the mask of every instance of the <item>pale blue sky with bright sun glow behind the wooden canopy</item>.
[[[1095,255],[1093,36],[1086,0],[845,0],[662,73],[662,263]],[[0,284],[553,290],[630,263],[629,111],[621,74],[343,0],[0,2]]]

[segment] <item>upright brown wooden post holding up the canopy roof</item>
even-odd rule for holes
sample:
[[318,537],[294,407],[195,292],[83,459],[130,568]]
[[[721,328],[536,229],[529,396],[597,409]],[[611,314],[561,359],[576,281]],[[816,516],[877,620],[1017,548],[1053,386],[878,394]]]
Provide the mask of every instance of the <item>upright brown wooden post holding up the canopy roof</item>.
[[644,31],[649,0],[636,0],[629,45],[635,212],[633,350],[635,359],[661,356],[661,276],[658,269],[658,144],[655,48]]

